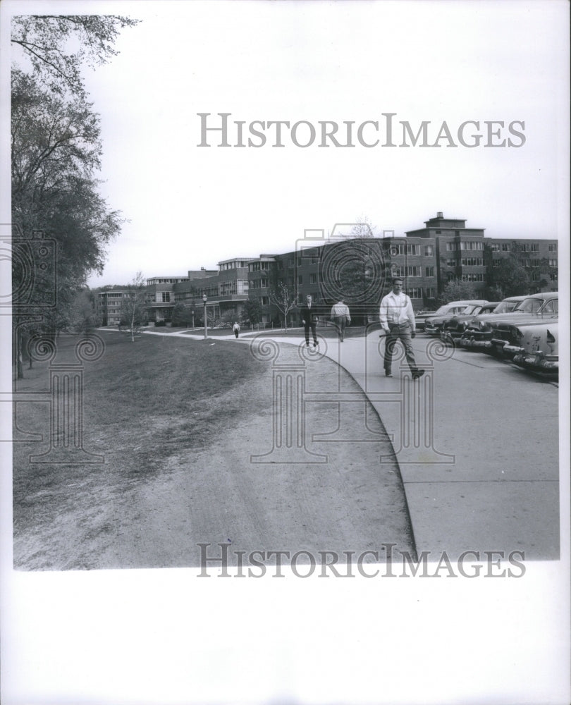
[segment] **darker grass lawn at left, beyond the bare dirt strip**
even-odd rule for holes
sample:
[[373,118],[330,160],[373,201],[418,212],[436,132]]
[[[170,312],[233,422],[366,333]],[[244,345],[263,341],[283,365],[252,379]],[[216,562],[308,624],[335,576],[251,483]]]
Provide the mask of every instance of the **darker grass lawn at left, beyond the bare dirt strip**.
[[[18,534],[50,535],[64,515],[80,530],[96,503],[168,472],[171,455],[216,443],[247,407],[252,380],[269,368],[247,345],[168,336],[140,336],[132,343],[116,332],[98,335],[105,350],[99,360],[85,362],[83,440],[85,450],[104,455],[104,463],[29,462],[30,454],[49,448],[49,404],[18,404],[18,427],[42,433],[44,441],[13,446],[15,559]],[[56,362],[75,360],[75,342],[59,338]],[[49,391],[47,362],[35,362],[24,374],[18,391]],[[41,554],[37,560],[28,555],[28,563],[32,558],[33,567],[47,568]]]

